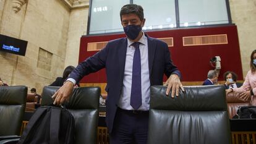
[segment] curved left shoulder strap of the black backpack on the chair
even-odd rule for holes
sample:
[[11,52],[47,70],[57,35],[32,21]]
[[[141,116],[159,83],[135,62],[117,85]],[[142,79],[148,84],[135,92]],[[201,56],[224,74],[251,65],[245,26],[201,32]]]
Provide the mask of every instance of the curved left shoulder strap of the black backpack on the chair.
[[28,133],[31,132],[33,126],[38,121],[38,119],[43,115],[43,113],[46,112],[46,108],[38,108],[36,109],[33,116],[30,118],[30,121],[28,122],[28,125],[26,126],[25,130],[22,133],[22,137],[20,137],[19,144],[25,143],[27,140]]

